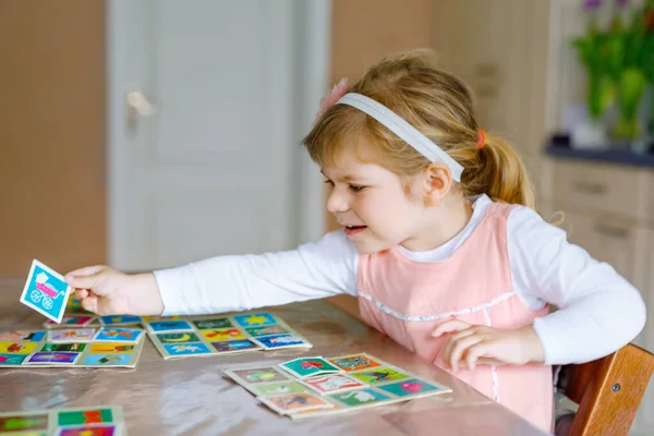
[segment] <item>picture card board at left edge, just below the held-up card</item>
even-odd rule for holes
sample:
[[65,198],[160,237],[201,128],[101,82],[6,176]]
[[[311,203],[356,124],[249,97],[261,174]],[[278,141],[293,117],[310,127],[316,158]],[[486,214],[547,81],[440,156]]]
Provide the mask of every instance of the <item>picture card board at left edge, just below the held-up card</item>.
[[0,334],[0,367],[134,367],[144,336],[120,327],[8,331]]

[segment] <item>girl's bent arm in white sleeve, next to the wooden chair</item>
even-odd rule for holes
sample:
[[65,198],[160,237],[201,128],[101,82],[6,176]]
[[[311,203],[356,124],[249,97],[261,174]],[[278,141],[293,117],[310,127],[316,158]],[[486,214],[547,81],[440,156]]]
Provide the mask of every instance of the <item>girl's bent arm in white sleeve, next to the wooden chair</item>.
[[546,364],[583,363],[632,341],[645,324],[639,291],[608,264],[567,241],[534,210],[509,216],[513,286],[532,308],[558,307],[533,324]]

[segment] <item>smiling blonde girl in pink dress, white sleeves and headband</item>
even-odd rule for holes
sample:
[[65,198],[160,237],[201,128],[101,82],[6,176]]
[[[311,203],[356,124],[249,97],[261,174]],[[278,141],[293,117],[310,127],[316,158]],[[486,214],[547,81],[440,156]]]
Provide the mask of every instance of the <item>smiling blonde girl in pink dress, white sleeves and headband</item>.
[[66,280],[83,306],[193,315],[348,293],[371,326],[550,431],[550,365],[627,344],[645,307],[538,216],[519,156],[477,125],[469,89],[433,59],[389,56],[323,99],[304,144],[342,230],[152,274],[82,268]]

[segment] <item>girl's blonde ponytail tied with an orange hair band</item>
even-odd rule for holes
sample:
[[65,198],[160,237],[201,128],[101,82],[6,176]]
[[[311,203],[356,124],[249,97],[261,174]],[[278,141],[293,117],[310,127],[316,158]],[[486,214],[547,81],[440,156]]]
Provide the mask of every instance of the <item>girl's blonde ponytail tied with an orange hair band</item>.
[[[520,204],[535,209],[533,185],[522,158],[504,138],[487,136],[476,149],[475,164],[468,180],[462,180],[465,191],[485,193],[496,202]],[[476,170],[476,171],[475,171]]]

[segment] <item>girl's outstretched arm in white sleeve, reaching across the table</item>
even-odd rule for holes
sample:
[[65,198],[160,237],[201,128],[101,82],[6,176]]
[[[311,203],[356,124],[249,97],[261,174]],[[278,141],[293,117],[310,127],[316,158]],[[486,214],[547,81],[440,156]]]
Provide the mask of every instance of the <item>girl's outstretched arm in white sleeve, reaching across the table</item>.
[[164,315],[195,315],[355,294],[358,259],[338,230],[296,250],[217,256],[154,274]]

